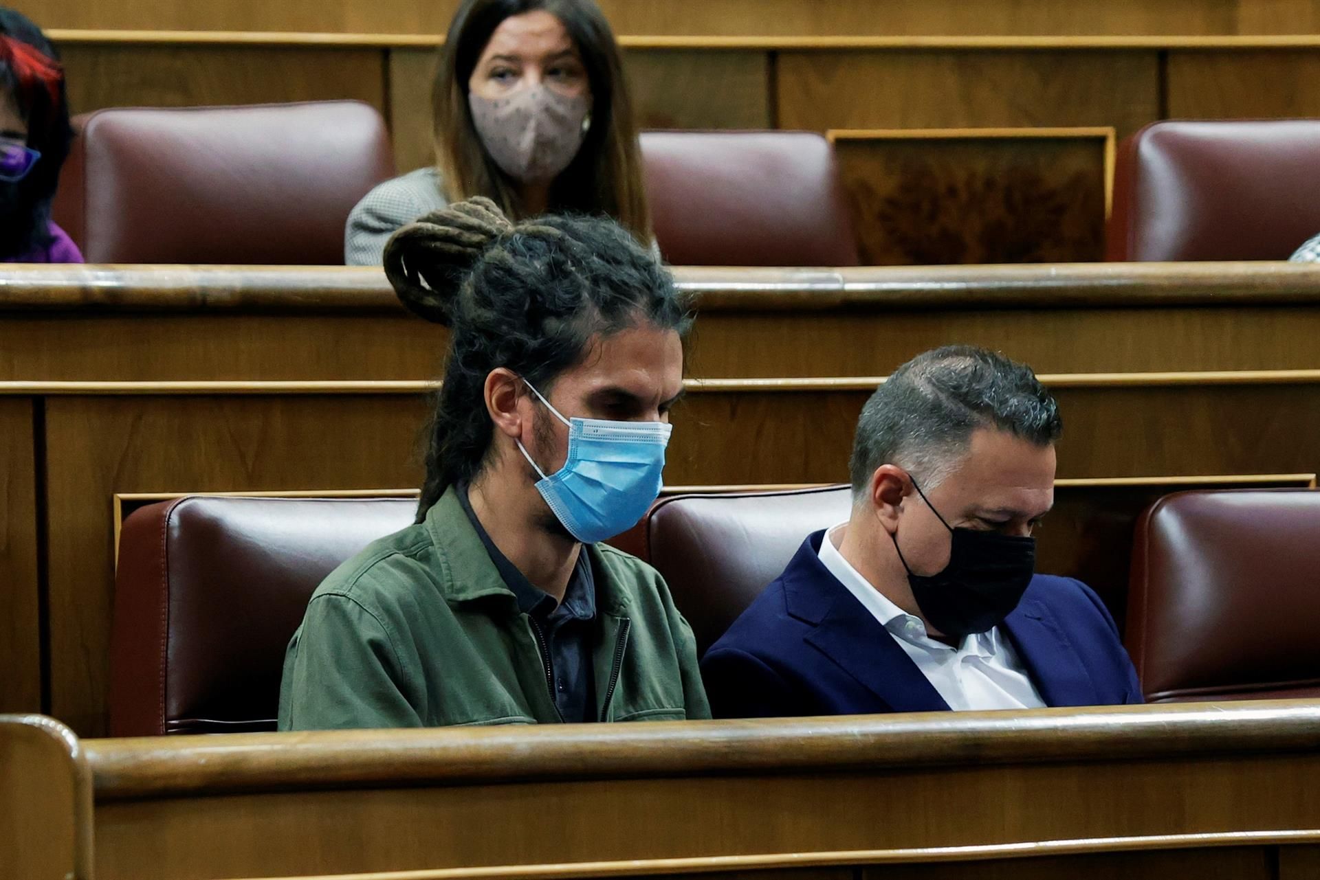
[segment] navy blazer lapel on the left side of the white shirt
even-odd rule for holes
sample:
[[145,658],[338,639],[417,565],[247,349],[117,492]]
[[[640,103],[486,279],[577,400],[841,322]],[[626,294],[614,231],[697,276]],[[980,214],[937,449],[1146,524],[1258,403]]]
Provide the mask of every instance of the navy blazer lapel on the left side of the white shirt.
[[[888,629],[821,565],[813,534],[785,571],[789,613],[814,624],[804,640],[895,712],[948,710]],[[876,711],[858,706],[857,712]]]

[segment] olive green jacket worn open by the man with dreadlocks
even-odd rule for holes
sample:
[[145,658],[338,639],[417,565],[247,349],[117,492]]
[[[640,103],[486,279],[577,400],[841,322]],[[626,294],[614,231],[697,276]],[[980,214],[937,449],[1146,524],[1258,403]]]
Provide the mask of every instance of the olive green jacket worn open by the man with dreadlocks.
[[[601,720],[710,718],[697,649],[651,566],[589,545]],[[450,488],[317,588],[284,658],[280,730],[558,722],[531,619]]]

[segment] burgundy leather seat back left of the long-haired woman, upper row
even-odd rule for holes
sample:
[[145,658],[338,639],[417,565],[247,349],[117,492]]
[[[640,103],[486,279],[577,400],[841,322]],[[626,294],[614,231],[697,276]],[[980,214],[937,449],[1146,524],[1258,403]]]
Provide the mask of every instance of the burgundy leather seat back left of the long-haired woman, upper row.
[[343,263],[348,211],[393,173],[360,102],[79,117],[55,222],[88,263]]

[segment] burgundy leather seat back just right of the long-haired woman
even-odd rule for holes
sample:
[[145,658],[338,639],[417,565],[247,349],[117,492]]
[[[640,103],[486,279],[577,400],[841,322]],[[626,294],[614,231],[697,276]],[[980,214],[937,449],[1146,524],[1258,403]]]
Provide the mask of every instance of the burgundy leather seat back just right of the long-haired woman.
[[644,132],[642,157],[656,241],[673,265],[857,265],[822,136]]

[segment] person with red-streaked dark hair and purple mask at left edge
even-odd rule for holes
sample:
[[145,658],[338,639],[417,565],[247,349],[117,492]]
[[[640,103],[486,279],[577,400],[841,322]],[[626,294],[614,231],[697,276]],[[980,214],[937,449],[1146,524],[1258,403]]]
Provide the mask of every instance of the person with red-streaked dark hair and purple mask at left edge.
[[0,261],[82,263],[50,219],[73,129],[65,71],[41,29],[0,8]]

